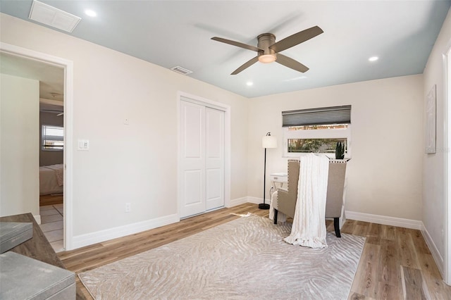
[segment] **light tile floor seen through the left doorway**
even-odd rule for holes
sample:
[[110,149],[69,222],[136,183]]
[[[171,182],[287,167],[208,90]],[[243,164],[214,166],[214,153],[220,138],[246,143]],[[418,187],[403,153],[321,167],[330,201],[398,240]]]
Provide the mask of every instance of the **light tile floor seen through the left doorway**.
[[55,252],[63,251],[63,204],[40,206],[42,232],[49,240]]

